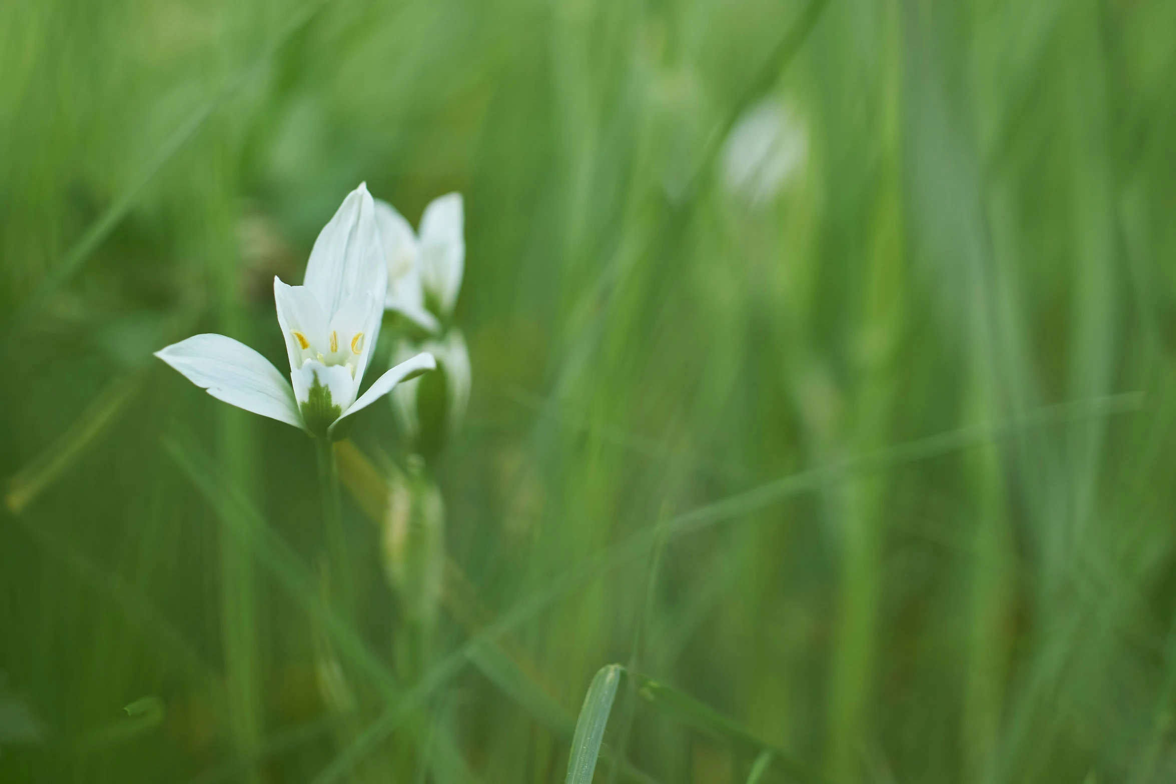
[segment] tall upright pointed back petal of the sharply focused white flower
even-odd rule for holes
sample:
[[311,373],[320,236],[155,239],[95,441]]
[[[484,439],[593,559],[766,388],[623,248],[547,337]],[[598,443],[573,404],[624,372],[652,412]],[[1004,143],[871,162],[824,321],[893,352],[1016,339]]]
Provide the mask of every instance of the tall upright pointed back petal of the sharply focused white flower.
[[305,284],[314,292],[328,320],[345,301],[358,294],[370,294],[376,302],[383,302],[388,267],[376,227],[375,205],[366,185],[347,195],[314,241]]

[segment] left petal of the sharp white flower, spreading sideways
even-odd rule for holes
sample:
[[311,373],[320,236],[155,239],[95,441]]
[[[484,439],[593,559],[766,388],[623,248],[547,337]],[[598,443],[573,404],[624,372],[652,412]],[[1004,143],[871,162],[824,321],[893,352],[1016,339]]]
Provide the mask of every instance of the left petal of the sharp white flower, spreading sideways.
[[155,351],[208,394],[247,411],[302,427],[286,378],[252,348],[225,335],[195,335]]

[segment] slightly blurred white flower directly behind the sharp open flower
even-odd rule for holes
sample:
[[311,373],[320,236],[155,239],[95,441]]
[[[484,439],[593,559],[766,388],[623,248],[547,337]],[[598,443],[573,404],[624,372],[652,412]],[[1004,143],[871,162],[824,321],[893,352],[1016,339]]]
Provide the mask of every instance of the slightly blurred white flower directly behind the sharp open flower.
[[385,307],[436,333],[437,316],[448,319],[457,302],[466,263],[461,194],[447,194],[425,208],[420,236],[387,202],[375,202],[375,217],[388,260]]

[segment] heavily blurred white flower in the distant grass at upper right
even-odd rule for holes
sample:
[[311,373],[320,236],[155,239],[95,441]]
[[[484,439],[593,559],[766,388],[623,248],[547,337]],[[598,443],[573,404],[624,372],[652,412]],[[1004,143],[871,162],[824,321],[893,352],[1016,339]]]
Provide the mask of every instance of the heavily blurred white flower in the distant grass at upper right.
[[753,205],[771,201],[801,170],[808,133],[787,105],[767,99],[735,122],[722,150],[723,185]]

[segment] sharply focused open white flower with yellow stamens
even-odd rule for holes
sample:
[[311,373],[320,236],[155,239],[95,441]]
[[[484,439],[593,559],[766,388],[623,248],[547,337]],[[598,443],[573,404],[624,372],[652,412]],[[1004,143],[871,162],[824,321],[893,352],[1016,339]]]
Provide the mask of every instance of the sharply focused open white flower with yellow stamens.
[[155,356],[226,403],[341,437],[340,423],[399,382],[436,367],[428,353],[392,368],[358,396],[375,349],[388,286],[375,205],[361,185],[315,240],[302,286],[274,277],[290,384],[263,356],[223,335],[195,335]]

